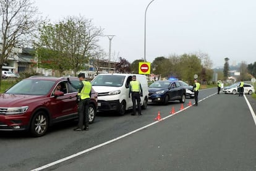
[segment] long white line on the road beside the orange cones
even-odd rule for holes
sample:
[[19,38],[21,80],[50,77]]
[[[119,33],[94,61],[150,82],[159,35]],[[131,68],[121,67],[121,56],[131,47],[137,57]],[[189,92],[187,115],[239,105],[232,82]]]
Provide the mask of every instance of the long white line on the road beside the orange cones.
[[[216,94],[216,93],[211,94],[210,96],[207,96],[206,98],[203,98],[203,99],[201,99],[201,100],[198,101],[198,102],[201,102],[201,101],[203,101],[203,100],[205,100],[205,99],[207,99],[207,98],[210,98],[211,96],[213,96],[213,95],[215,95],[215,94]],[[171,114],[171,115],[168,115],[168,116],[166,116],[166,117],[163,117],[163,119],[161,119],[161,120],[165,120],[165,119],[168,119],[169,117],[173,117],[174,115],[179,114],[179,112],[182,112],[182,111],[188,109],[189,107],[191,107],[191,106],[187,106],[187,107],[185,107],[184,109],[175,112],[174,114]],[[156,123],[161,122],[161,120],[160,120],[160,121],[152,122],[152,123],[150,123],[150,124],[148,124],[148,125],[145,125],[144,127],[138,128],[137,130],[130,131],[129,133],[126,133],[126,134],[124,134],[124,135],[118,136],[117,138],[114,138],[114,139],[112,139],[112,140],[106,141],[105,143],[98,144],[98,145],[96,145],[96,146],[93,146],[92,148],[85,149],[85,150],[83,150],[83,151],[80,151],[80,152],[77,152],[77,153],[72,154],[72,155],[70,155],[70,156],[67,156],[67,157],[64,157],[64,158],[62,158],[62,159],[59,159],[58,161],[54,161],[54,162],[51,162],[51,163],[49,163],[49,164],[43,165],[43,166],[41,166],[41,167],[38,167],[38,168],[36,168],[36,169],[32,169],[32,170],[30,170],[30,171],[43,170],[43,169],[46,169],[46,168],[51,167],[51,166],[53,166],[53,165],[59,164],[59,163],[61,163],[61,162],[68,161],[69,159],[72,159],[72,158],[74,158],[74,157],[80,156],[80,155],[85,154],[85,153],[87,153],[87,152],[93,151],[94,149],[101,148],[102,146],[105,146],[105,145],[107,145],[107,144],[113,143],[114,141],[117,141],[117,140],[121,140],[122,138],[125,138],[126,136],[132,135],[132,134],[134,134],[134,133],[137,133],[138,131],[144,130],[145,128],[151,127],[152,125],[155,125]],[[255,120],[256,120],[256,118],[255,118]]]

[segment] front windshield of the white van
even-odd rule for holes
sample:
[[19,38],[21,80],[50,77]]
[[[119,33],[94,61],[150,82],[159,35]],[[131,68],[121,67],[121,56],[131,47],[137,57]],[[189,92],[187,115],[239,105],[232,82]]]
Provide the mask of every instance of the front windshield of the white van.
[[122,86],[124,84],[123,75],[98,75],[93,81],[92,86]]

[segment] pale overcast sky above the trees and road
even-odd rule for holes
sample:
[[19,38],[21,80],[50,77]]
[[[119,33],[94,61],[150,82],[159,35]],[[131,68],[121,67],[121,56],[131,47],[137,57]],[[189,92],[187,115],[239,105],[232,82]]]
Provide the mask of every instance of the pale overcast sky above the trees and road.
[[[144,12],[151,0],[36,0],[43,16],[53,22],[83,15],[104,28],[113,56],[133,62],[144,52]],[[108,53],[109,40],[100,38]],[[255,0],[155,0],[147,12],[148,62],[155,57],[202,51],[213,66],[256,62]]]

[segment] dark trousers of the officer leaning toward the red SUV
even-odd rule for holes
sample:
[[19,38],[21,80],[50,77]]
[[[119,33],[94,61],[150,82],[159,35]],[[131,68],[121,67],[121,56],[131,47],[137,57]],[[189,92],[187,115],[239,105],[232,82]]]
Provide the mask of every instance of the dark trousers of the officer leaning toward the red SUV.
[[88,127],[89,124],[89,104],[90,104],[90,98],[87,99],[80,99],[78,104],[78,114],[79,114],[79,128],[82,130],[83,125],[85,125],[85,128]]

